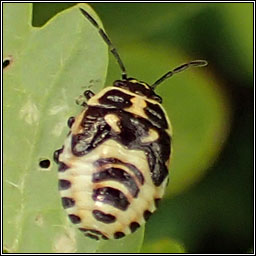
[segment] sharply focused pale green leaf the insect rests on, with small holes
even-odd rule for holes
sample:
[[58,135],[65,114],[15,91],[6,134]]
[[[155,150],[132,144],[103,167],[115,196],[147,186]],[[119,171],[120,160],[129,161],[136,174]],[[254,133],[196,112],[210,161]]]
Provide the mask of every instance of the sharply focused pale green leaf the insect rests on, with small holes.
[[[85,4],[79,5],[95,17]],[[4,247],[8,252],[91,252],[67,220],[57,188],[55,149],[62,146],[66,120],[81,110],[75,100],[103,87],[107,46],[78,6],[43,27],[31,25],[32,5],[4,4]],[[42,159],[51,161],[41,168]]]

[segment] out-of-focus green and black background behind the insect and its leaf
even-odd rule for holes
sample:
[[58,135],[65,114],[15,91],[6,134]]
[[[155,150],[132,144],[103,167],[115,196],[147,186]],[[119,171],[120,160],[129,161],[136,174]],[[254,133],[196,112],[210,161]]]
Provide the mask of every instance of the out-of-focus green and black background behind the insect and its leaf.
[[[73,4],[35,3],[33,25]],[[173,125],[171,181],[142,252],[245,253],[253,246],[253,4],[91,3],[128,75],[153,83]],[[120,78],[110,56],[106,85]],[[177,241],[177,245],[173,244]],[[175,249],[174,249],[175,247]]]

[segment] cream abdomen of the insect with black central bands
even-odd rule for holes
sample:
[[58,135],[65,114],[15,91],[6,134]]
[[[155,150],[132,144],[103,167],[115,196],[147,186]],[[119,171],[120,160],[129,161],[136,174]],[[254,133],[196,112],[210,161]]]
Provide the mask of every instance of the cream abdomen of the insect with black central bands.
[[[68,149],[68,143],[64,148]],[[127,154],[133,165],[125,162]],[[64,157],[65,153],[59,161]],[[129,152],[107,140],[95,151],[73,161],[74,164],[66,163],[71,163],[70,168],[59,172],[59,180],[62,184],[64,180],[70,183],[60,186],[60,193],[63,207],[78,228],[118,238],[135,231],[135,226],[145,222],[144,215],[156,209],[152,198],[161,195],[155,191],[143,152]]]

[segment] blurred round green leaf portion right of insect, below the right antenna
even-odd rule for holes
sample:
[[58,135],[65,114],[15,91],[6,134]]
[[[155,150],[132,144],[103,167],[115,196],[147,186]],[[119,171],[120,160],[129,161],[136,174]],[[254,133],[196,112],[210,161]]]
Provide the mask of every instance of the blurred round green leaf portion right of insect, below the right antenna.
[[[159,88],[173,126],[173,155],[167,195],[200,180],[218,157],[229,133],[229,102],[207,67],[177,75]],[[172,88],[170,88],[172,87]]]

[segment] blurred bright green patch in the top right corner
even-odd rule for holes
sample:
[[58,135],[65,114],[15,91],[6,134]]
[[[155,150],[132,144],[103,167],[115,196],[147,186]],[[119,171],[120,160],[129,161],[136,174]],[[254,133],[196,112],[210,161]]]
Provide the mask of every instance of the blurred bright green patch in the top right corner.
[[230,65],[230,59],[224,59],[223,67],[248,79],[249,83],[243,86],[253,86],[253,3],[226,3],[220,9],[224,39],[228,42],[226,51],[234,63]]

